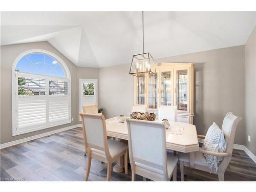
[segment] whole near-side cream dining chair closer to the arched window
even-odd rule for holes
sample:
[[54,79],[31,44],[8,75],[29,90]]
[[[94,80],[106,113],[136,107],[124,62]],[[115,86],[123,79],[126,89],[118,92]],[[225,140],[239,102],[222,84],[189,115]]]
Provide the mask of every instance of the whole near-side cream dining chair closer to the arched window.
[[106,138],[106,123],[104,115],[79,113],[82,119],[82,134],[87,155],[86,178],[88,181],[91,160],[98,159],[108,163],[106,181],[110,181],[111,165],[114,161],[124,155],[124,172],[128,174],[128,145],[121,141]]

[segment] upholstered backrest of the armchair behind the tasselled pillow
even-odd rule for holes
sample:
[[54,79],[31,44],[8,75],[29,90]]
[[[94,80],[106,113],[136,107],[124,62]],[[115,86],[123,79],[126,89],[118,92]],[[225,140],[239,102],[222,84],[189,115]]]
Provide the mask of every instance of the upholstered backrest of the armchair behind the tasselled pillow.
[[233,115],[231,112],[228,112],[224,117],[222,123],[222,131],[225,136],[226,141],[226,152],[231,153],[233,151],[234,136],[236,135],[237,124],[241,121],[241,117]]

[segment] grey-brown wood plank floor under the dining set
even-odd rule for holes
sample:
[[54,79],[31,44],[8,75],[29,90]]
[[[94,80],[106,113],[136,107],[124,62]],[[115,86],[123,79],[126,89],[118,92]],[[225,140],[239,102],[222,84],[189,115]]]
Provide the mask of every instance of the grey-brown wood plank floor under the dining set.
[[[81,128],[3,148],[1,150],[1,181],[83,181],[87,157]],[[113,166],[115,163],[113,163]],[[111,181],[131,181],[129,175],[111,173]],[[106,164],[92,160],[89,181],[105,181]],[[136,176],[136,181],[142,181]],[[180,170],[177,168],[177,180]],[[185,181],[218,181],[217,175],[187,168]],[[256,164],[244,151],[233,150],[225,181],[256,181]]]

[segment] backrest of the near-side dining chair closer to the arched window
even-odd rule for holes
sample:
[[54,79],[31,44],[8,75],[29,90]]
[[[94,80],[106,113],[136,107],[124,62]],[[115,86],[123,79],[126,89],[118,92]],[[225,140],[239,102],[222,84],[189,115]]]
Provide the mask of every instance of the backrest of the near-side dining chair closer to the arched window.
[[91,150],[95,148],[109,155],[108,140],[106,138],[105,117],[102,114],[79,113],[82,119],[84,145]]

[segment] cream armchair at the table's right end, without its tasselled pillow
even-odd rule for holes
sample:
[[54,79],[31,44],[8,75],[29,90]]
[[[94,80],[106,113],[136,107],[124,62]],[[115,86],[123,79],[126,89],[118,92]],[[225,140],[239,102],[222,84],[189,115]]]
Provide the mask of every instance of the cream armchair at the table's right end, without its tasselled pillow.
[[[226,141],[225,153],[209,152],[200,147],[198,152],[194,152],[194,158],[192,158],[194,159],[193,162],[189,161],[189,154],[179,153],[181,181],[184,181],[184,166],[203,170],[204,172],[210,172],[204,154],[223,157],[222,161],[218,164],[218,173],[213,173],[218,174],[219,181],[224,181],[225,170],[233,152],[234,136],[236,134],[237,124],[241,119],[241,117],[237,117],[231,112],[228,112],[224,117],[222,131]],[[205,136],[198,135],[198,138],[204,139]]]

